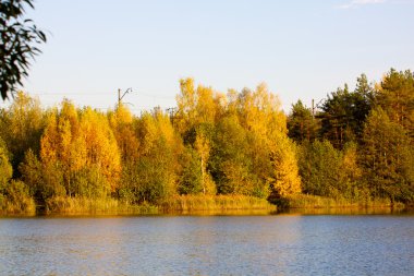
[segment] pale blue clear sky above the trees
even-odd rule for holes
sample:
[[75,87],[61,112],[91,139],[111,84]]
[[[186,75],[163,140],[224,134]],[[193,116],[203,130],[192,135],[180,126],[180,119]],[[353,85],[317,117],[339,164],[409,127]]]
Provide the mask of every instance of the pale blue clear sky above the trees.
[[[23,91],[138,113],[175,106],[179,81],[226,93],[265,82],[289,112],[344,83],[414,70],[414,0],[35,0],[47,44]],[[4,105],[4,103],[2,103]]]

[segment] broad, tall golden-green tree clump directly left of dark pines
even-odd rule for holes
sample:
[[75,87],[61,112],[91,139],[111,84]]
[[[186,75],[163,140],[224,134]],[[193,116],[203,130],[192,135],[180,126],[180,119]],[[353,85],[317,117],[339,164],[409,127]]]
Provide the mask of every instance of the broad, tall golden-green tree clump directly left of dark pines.
[[270,188],[280,195],[301,191],[285,116],[267,86],[260,84],[255,91],[245,88],[240,94],[230,91],[227,116],[223,123],[218,123],[212,155],[219,191],[234,191],[230,183],[235,185],[235,193],[259,197],[266,197]]

